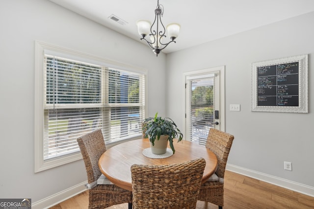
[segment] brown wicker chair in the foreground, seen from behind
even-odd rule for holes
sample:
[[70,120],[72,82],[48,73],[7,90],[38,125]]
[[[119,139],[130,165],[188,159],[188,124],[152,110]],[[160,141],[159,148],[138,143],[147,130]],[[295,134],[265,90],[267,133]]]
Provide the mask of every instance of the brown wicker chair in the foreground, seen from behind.
[[195,209],[205,164],[132,165],[133,209]]

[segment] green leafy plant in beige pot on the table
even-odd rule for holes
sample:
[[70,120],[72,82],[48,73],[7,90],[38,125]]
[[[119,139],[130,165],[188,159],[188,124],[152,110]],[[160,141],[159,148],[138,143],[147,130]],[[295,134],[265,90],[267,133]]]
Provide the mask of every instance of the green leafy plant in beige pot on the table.
[[[173,139],[178,138],[179,142],[182,140],[183,134],[171,118],[157,117],[157,114],[158,113],[155,114],[155,117],[149,117],[144,120],[143,132],[145,134],[145,138],[149,138],[151,142],[152,152],[154,154],[164,154],[167,151],[168,141],[170,148],[172,149],[172,152],[174,154],[176,150],[173,146]],[[165,141],[165,147],[157,147],[158,150],[156,150],[156,139],[157,141]]]

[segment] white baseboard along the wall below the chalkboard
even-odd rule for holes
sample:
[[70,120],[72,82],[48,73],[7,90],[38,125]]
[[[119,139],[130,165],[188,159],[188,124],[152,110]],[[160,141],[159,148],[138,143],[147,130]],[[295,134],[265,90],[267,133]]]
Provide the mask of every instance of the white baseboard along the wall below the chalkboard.
[[228,163],[227,163],[226,169],[229,171],[244,175],[244,176],[248,176],[254,179],[261,180],[263,182],[267,182],[269,184],[281,186],[281,187],[290,189],[292,191],[296,191],[296,192],[314,197],[313,186],[303,185],[297,182],[292,182],[292,181],[282,179],[276,176],[271,176],[265,173],[260,173],[258,171],[250,170],[247,168],[239,167],[239,166],[228,164]]

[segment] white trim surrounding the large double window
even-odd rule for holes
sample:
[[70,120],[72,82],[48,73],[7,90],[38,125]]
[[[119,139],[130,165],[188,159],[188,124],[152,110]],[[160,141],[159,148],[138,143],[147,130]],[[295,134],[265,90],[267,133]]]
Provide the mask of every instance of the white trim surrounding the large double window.
[[[148,70],[134,67],[131,65],[127,65],[124,63],[119,63],[112,60],[107,60],[104,58],[88,55],[79,51],[53,46],[50,44],[46,44],[40,41],[35,41],[35,99],[34,99],[34,160],[35,173],[44,171],[59,165],[63,165],[66,163],[71,163],[82,159],[81,153],[73,153],[66,156],[62,156],[59,158],[54,158],[51,160],[44,161],[44,153],[43,153],[43,129],[44,129],[44,88],[43,88],[43,79],[44,79],[44,51],[52,50],[56,51],[62,55],[70,56],[70,57],[79,57],[83,60],[93,60],[96,63],[102,63],[108,67],[119,68],[121,70],[128,70],[133,72],[140,72],[145,74],[147,77]],[[147,82],[145,82],[145,101],[147,101]],[[145,113],[147,113],[147,105],[145,105]],[[110,145],[109,145],[110,147]]]

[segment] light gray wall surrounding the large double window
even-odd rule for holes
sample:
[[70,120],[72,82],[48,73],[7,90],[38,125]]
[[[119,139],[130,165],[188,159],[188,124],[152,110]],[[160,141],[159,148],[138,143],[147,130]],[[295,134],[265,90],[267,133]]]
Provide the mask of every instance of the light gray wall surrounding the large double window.
[[166,112],[164,54],[48,0],[1,0],[0,198],[33,203],[86,181],[82,160],[34,173],[35,40],[147,69],[148,115]]

